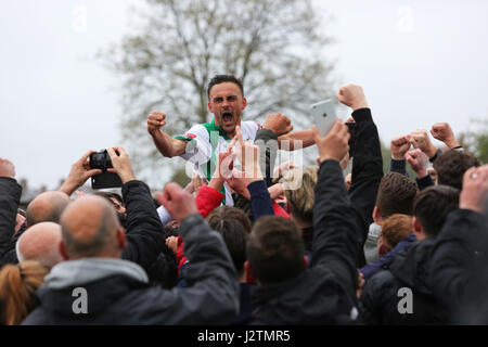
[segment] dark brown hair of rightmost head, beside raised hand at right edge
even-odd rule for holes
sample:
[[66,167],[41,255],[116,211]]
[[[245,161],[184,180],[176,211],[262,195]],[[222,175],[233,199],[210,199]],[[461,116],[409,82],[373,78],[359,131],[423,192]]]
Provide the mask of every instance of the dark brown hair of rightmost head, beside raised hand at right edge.
[[449,150],[434,162],[437,182],[459,190],[463,189],[463,175],[473,166],[479,166],[478,159],[464,151]]

